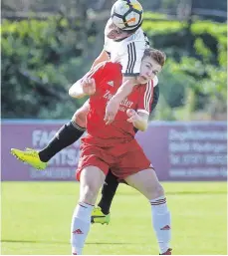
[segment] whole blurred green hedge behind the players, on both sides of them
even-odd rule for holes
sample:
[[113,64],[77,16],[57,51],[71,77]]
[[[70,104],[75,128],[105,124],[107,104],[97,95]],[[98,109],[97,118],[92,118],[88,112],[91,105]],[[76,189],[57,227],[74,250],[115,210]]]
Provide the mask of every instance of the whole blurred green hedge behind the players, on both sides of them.
[[[165,20],[165,15],[148,12],[144,17],[152,47],[167,55],[156,118],[225,113],[227,25],[196,20],[189,31],[186,22]],[[59,15],[45,21],[3,20],[2,118],[71,118],[83,100],[71,100],[68,89],[94,61],[84,58],[88,49],[81,26]],[[87,44],[92,47],[96,37],[89,31]]]

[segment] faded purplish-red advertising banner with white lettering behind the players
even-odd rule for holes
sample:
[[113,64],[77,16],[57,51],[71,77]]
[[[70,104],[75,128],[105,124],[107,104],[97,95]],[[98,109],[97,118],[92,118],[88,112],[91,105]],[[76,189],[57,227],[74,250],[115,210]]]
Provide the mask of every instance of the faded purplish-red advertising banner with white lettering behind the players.
[[[63,149],[45,170],[18,161],[10,148],[43,148],[65,121],[3,121],[1,179],[75,180],[80,142]],[[160,180],[226,180],[227,124],[225,122],[151,122],[138,142]]]

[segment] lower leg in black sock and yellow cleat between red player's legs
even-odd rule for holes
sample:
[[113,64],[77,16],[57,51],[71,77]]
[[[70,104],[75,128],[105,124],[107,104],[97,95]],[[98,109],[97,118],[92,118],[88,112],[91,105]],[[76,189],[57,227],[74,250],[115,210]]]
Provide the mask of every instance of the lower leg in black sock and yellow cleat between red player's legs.
[[109,224],[110,208],[114,199],[114,194],[118,186],[118,178],[110,170],[106,176],[105,184],[102,189],[102,198],[92,212],[92,223]]

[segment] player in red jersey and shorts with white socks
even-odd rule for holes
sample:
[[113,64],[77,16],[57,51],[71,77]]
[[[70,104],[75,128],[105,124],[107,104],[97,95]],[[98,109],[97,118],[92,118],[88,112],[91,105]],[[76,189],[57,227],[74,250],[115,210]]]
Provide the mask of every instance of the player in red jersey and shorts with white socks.
[[[82,254],[90,230],[91,214],[109,168],[119,179],[141,192],[151,204],[153,228],[160,254],[171,254],[170,212],[164,189],[150,161],[134,138],[134,129],[147,128],[152,99],[152,78],[164,65],[165,56],[146,49],[141,62],[138,85],[119,105],[111,125],[104,121],[106,106],[121,85],[121,66],[106,62],[96,67],[69,90],[70,96],[90,96],[87,116],[88,134],[82,139],[77,170],[80,199],[73,214],[71,227],[72,253]],[[150,83],[149,83],[150,81]]]

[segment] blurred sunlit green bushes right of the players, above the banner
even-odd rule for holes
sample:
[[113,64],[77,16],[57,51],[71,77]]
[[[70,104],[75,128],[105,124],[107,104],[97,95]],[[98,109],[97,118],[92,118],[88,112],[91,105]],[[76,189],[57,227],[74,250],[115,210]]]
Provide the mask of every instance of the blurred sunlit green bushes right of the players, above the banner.
[[[190,112],[207,112],[211,117],[216,111],[226,113],[227,24],[196,20],[189,31],[186,22],[150,18],[143,29],[152,46],[167,55],[159,84],[169,120],[192,119]],[[156,118],[167,118],[160,111]]]

